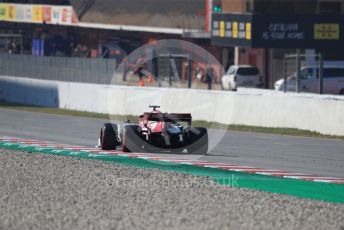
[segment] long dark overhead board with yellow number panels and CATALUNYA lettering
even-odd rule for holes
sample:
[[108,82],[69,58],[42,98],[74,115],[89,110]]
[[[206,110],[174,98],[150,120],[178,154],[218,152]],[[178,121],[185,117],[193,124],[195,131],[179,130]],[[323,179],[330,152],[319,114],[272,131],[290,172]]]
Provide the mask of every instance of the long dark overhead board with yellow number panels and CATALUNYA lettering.
[[344,47],[344,17],[214,14],[212,44],[252,48]]

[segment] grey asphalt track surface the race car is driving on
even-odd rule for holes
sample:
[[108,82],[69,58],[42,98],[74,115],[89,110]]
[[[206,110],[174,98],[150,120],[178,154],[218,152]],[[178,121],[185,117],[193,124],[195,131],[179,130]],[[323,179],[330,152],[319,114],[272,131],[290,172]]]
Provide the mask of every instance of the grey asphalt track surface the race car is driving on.
[[[102,119],[0,109],[0,135],[95,146]],[[218,130],[210,130],[216,135]],[[162,155],[162,154],[157,154]],[[208,155],[179,157],[319,176],[344,177],[344,141],[226,132]]]

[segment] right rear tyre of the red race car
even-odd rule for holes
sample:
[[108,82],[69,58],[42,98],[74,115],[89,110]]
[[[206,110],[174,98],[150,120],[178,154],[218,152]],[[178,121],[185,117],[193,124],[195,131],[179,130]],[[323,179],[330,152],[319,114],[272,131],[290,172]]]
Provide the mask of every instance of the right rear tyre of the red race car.
[[189,132],[189,146],[187,152],[190,154],[206,155],[208,153],[208,142],[209,138],[206,128],[192,128]]

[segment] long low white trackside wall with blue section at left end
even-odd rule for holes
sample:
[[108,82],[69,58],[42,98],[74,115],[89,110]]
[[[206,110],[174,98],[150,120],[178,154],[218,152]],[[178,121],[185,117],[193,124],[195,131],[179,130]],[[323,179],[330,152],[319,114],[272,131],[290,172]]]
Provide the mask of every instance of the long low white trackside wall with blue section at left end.
[[[44,90],[43,90],[44,89]],[[139,115],[148,105],[225,124],[298,128],[344,135],[344,97],[95,85],[0,76],[0,99],[80,111]]]

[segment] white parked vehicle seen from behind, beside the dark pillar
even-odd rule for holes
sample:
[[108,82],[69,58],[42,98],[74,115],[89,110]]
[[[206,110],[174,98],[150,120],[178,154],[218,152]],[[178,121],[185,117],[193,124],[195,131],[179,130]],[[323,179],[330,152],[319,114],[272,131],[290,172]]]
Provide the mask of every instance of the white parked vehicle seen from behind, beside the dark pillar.
[[221,86],[225,90],[259,87],[261,84],[259,69],[251,65],[232,65],[221,78]]

